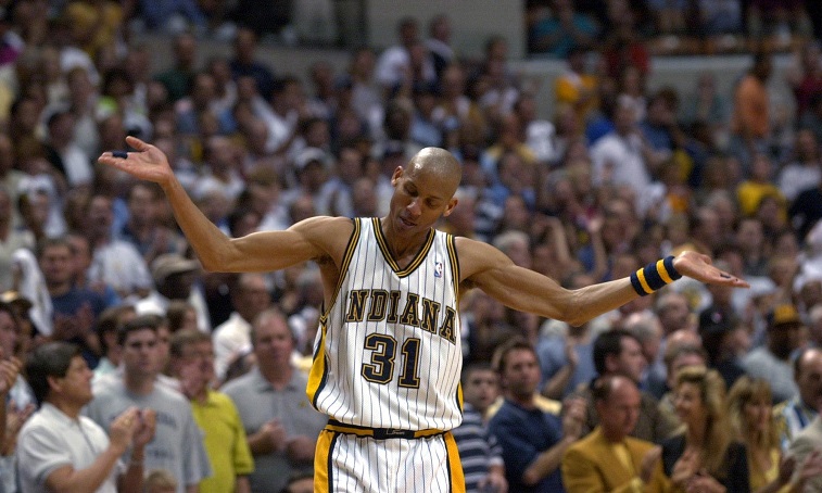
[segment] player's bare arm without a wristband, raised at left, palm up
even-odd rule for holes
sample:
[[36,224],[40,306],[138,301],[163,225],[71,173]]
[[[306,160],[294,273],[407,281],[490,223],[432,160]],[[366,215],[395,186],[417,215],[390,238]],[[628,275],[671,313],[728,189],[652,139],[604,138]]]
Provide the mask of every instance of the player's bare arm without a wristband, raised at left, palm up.
[[340,265],[345,242],[353,230],[350,219],[315,217],[286,231],[256,232],[230,239],[191,201],[160,149],[135,137],[128,137],[126,142],[136,152],[105,152],[99,162],[159,184],[168,198],[177,224],[207,270],[269,271],[311,260]]

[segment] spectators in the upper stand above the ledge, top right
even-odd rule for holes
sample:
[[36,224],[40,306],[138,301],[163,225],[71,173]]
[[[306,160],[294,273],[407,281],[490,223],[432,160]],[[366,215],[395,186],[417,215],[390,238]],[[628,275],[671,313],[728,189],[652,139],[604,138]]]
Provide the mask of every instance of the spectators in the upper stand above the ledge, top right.
[[819,36],[819,7],[788,0],[529,0],[528,51],[564,58],[574,47],[654,54],[788,51]]

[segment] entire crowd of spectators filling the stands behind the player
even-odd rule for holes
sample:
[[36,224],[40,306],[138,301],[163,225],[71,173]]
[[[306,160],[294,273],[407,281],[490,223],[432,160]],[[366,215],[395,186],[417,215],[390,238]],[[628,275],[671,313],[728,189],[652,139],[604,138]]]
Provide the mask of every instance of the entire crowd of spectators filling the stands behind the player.
[[[469,491],[590,491],[598,446],[625,466],[600,476],[640,489],[819,488],[822,56],[806,5],[529,2],[531,49],[567,62],[540,81],[546,116],[508,41],[463,60],[447,15],[293,74],[258,53],[254,23],[282,13],[243,23],[225,3],[0,1],[0,491],[311,483],[318,268],[203,271],[159,187],[96,165],[127,135],[162,149],[230,237],[381,216],[391,173],[434,146],[464,167],[439,227],[565,287],[683,250],[751,285],[682,279],[580,327],[468,291],[455,435]],[[757,37],[783,24],[793,112],[772,106],[779,47]],[[132,29],[172,33],[167,69]],[[749,69],[728,93],[709,73],[650,91],[645,29],[746,33]],[[230,54],[204,61],[204,33]],[[80,408],[71,432],[90,448],[43,448],[42,424],[71,428]]]

